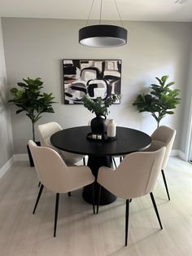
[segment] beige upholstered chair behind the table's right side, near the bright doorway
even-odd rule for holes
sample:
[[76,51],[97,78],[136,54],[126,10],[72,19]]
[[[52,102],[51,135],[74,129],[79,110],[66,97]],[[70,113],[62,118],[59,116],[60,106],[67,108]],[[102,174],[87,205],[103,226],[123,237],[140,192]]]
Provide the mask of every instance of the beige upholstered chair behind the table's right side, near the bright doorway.
[[175,136],[176,136],[176,130],[168,126],[159,126],[151,135],[151,139],[152,139],[151,146],[146,149],[146,151],[155,151],[161,147],[166,147],[166,152],[164,154],[164,161],[161,167],[161,173],[164,179],[164,186],[168,194],[168,200],[170,200],[170,196],[168,192],[168,184],[165,178],[164,169],[167,166],[168,157],[170,156],[170,153],[172,150],[172,144],[174,142]]

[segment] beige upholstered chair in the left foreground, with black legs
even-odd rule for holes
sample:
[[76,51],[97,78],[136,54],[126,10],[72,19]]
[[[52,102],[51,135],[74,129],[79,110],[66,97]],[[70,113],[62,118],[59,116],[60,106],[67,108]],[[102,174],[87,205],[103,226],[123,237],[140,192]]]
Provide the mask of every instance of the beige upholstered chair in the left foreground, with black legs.
[[[38,201],[44,186],[56,193],[55,204],[55,227],[56,236],[57,217],[59,209],[59,193],[66,193],[82,188],[93,183],[93,202],[94,202],[94,175],[88,166],[66,166],[62,157],[54,149],[38,147],[33,140],[28,141],[28,146],[33,156],[35,169],[41,181],[37,201],[33,214],[37,208]],[[94,209],[94,203],[93,203]]]

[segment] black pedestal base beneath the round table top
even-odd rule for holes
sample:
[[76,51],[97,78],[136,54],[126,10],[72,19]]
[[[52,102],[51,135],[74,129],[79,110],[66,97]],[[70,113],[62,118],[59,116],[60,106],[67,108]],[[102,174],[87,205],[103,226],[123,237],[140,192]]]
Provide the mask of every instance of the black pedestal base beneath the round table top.
[[[92,157],[89,156],[88,164],[89,168],[92,170],[95,179],[98,177],[98,169],[101,166],[112,167],[112,158],[111,157]],[[99,185],[97,182],[94,182],[94,201],[98,203],[98,188]],[[93,196],[92,196],[92,184],[84,187],[83,189],[83,198],[89,204],[93,203]],[[113,201],[116,201],[116,196],[108,192],[105,188],[102,187],[101,189],[101,197],[100,197],[100,204],[99,205],[108,205],[111,204]]]

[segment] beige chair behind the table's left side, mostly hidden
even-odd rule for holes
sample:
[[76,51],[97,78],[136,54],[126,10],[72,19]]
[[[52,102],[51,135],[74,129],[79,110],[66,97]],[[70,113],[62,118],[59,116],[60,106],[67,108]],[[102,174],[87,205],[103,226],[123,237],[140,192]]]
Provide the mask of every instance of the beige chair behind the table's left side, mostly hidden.
[[55,151],[57,151],[57,152],[59,152],[59,154],[61,154],[61,157],[63,158],[66,165],[68,165],[68,166],[74,165],[78,161],[81,161],[82,159],[83,159],[83,162],[85,165],[85,156],[73,154],[73,153],[66,152],[66,151],[61,151],[61,150],[59,150],[59,148],[55,148],[50,143],[50,136],[55,134],[55,132],[57,132],[59,130],[62,130],[62,127],[55,121],[50,121],[46,124],[39,125],[38,131],[39,131],[41,146],[55,149]]

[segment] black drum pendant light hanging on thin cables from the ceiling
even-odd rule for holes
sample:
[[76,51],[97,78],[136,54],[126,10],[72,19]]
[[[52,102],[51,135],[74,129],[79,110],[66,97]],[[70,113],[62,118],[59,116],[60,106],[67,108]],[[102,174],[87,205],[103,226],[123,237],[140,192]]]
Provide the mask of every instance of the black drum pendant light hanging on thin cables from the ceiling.
[[[116,47],[116,46],[124,46],[127,43],[127,30],[123,27],[123,22],[120,18],[122,27],[111,25],[111,24],[101,24],[101,15],[102,15],[102,1],[100,7],[100,20],[99,24],[87,26],[88,20],[86,22],[86,26],[79,30],[79,42],[84,46],[91,47]],[[116,4],[116,0],[114,0]],[[94,4],[94,0],[92,2],[90,12],[92,10]],[[118,11],[119,17],[120,12],[116,5],[116,10]]]

